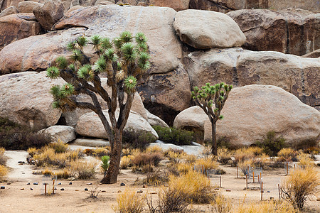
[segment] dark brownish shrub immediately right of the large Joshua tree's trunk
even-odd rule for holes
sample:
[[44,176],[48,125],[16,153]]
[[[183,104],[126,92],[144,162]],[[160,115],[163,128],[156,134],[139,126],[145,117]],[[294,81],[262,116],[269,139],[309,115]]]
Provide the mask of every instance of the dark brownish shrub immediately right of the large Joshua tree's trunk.
[[144,149],[155,141],[154,135],[147,132],[138,133],[133,130],[124,130],[122,141],[124,147]]

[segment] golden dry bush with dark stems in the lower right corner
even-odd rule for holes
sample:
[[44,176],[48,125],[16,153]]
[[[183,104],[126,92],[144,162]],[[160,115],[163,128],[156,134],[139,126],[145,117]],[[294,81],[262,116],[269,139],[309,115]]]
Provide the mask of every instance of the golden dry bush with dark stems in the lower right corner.
[[314,167],[297,168],[283,180],[281,196],[296,209],[302,209],[308,197],[319,193],[319,186],[319,174]]

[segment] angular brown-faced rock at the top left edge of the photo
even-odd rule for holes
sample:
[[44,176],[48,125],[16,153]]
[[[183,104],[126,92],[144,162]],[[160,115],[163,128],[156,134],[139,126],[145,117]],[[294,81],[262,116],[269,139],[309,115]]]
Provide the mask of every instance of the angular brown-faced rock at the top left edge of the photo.
[[34,7],[33,13],[41,26],[50,31],[53,24],[63,18],[64,9],[60,0],[48,0],[43,6]]

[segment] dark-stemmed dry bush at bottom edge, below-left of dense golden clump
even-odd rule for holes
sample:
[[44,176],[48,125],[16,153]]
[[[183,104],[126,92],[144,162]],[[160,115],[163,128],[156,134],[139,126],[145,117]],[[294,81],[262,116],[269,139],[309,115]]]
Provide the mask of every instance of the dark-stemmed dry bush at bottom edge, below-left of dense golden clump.
[[158,192],[159,200],[156,205],[152,202],[152,197],[145,197],[146,204],[149,207],[149,212],[188,212],[188,203],[186,202],[186,195],[172,189],[170,187],[162,187]]

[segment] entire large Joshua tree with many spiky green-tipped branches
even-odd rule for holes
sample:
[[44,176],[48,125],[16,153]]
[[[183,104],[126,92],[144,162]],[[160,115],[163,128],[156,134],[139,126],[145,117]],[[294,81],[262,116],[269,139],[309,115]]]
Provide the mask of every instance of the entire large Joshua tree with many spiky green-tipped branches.
[[[91,45],[98,56],[93,65],[84,53],[86,45]],[[133,36],[128,31],[113,40],[100,35],[90,39],[81,36],[68,43],[67,48],[72,53],[70,57],[60,56],[53,63],[55,66],[47,69],[49,78],[62,77],[66,82],[63,86],[55,85],[50,89],[54,99],[53,108],[63,111],[91,109],[99,116],[111,146],[110,167],[101,182],[117,182],[123,129],[127,124],[137,81],[150,67],[146,36],[143,33]],[[111,92],[102,87],[99,76],[102,73],[107,75],[107,85]],[[78,102],[75,98],[78,94],[89,96],[92,102]],[[107,102],[110,122],[102,112],[97,95]]]

